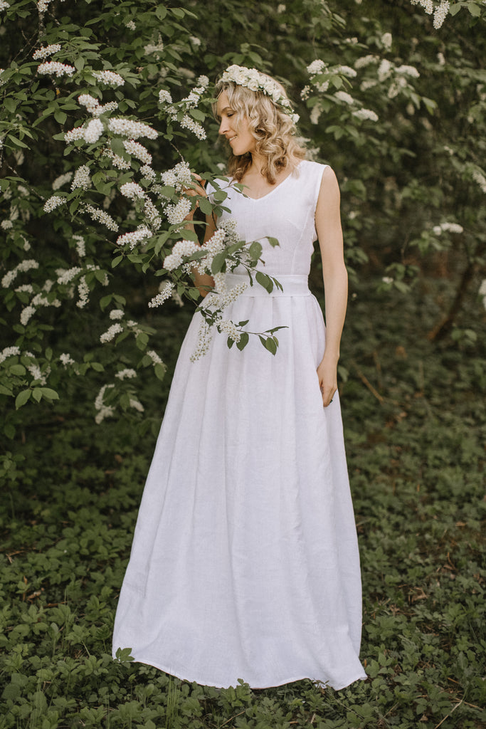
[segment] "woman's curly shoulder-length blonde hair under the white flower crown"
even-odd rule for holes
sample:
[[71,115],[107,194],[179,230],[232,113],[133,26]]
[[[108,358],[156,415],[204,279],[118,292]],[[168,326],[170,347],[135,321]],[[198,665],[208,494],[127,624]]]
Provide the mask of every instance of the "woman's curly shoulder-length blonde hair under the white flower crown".
[[[271,80],[278,84],[275,79]],[[278,84],[278,87],[282,96],[287,98],[283,86]],[[275,184],[278,174],[285,169],[294,171],[299,161],[304,159],[305,149],[297,144],[295,124],[289,113],[262,91],[251,91],[233,82],[217,82],[216,97],[223,91],[227,93],[230,106],[235,112],[235,118],[232,120],[235,130],[238,131],[244,117],[248,120],[249,130],[256,140],[255,152],[267,160],[262,169],[267,182]],[[217,116],[216,104],[213,106],[213,111]],[[245,155],[233,155],[232,151],[230,152],[228,172],[237,182],[243,179],[250,165],[251,152]]]

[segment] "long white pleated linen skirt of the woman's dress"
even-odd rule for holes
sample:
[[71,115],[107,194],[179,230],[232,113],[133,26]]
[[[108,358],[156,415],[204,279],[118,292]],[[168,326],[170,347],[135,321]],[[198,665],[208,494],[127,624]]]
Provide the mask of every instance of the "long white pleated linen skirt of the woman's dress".
[[340,404],[322,406],[321,308],[295,291],[254,286],[227,311],[285,324],[275,356],[216,332],[190,362],[195,315],[141,502],[113,650],[202,685],[366,678]]

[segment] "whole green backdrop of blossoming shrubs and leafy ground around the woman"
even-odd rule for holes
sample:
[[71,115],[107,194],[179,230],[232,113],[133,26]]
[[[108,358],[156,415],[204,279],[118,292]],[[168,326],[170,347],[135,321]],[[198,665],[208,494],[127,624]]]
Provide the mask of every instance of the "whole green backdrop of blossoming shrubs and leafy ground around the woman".
[[[486,725],[485,17],[477,0],[0,0],[0,728]],[[341,692],[218,692],[110,655],[197,305],[190,246],[167,259],[191,236],[188,165],[222,174],[211,83],[230,63],[285,83],[342,190],[369,679]],[[230,243],[213,273],[259,255]],[[324,303],[321,280],[316,259]]]

